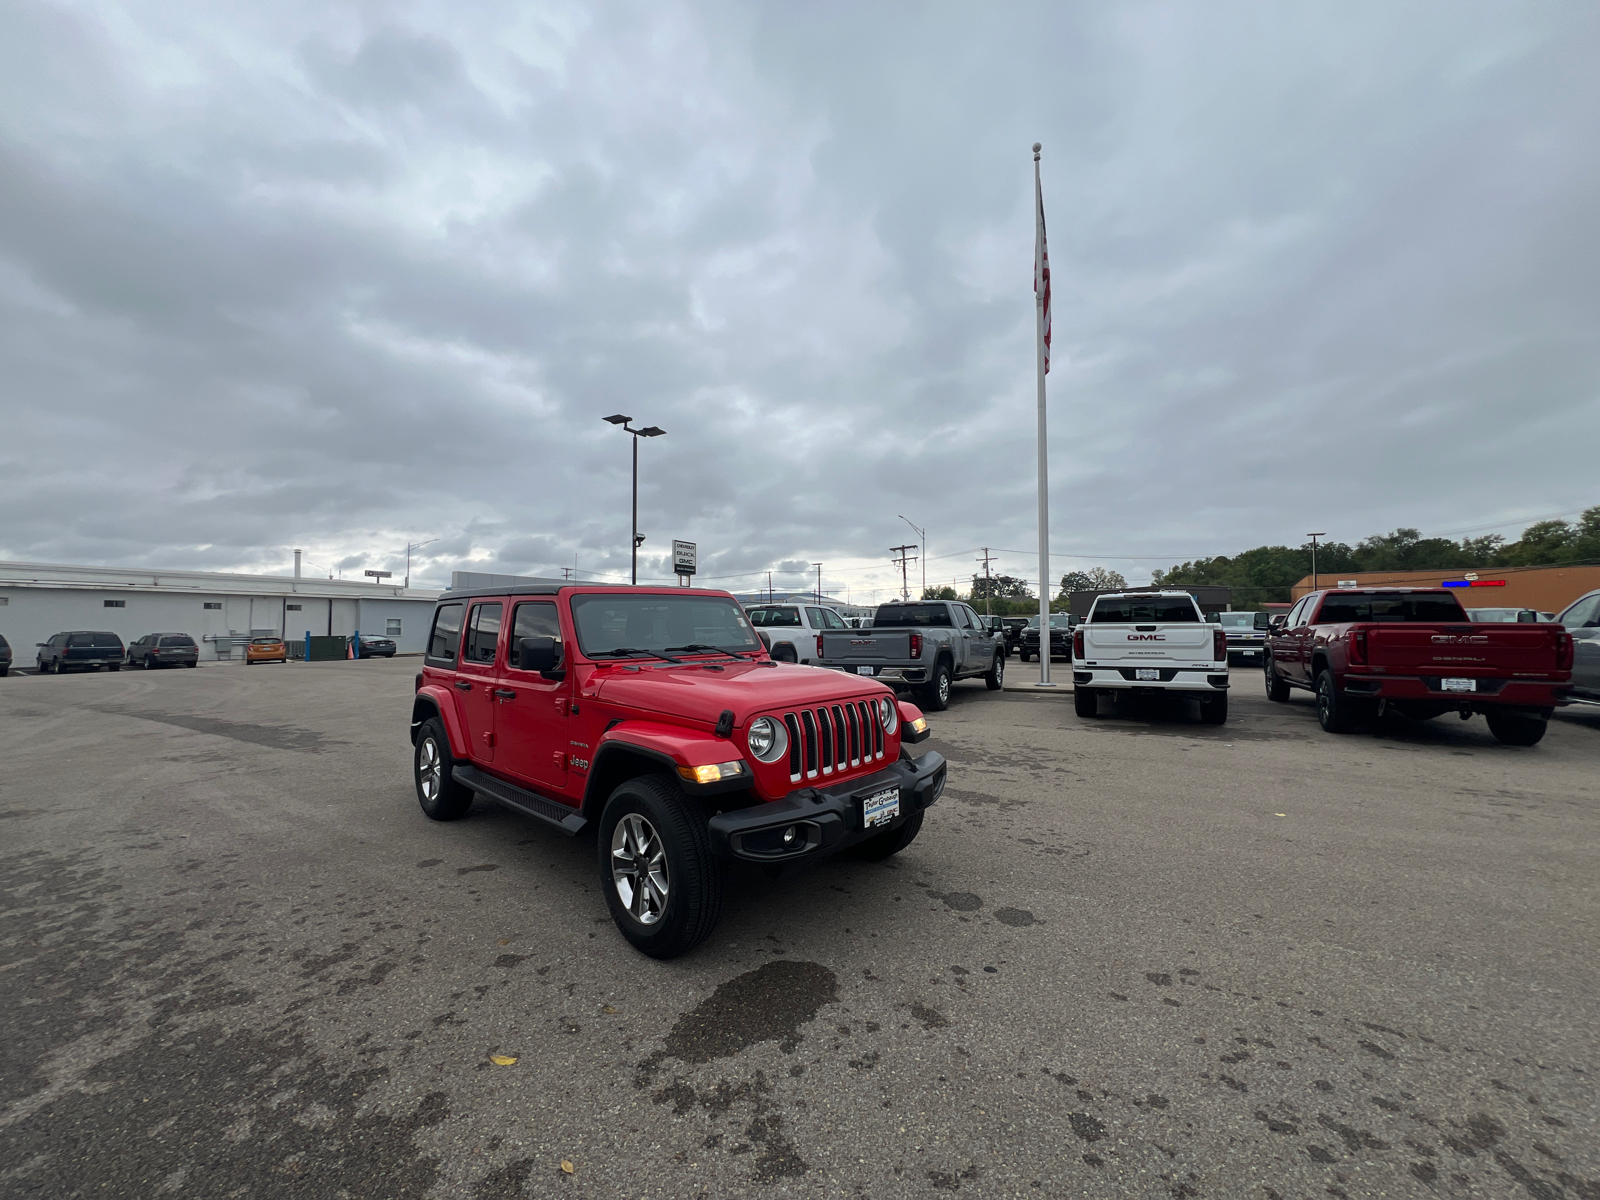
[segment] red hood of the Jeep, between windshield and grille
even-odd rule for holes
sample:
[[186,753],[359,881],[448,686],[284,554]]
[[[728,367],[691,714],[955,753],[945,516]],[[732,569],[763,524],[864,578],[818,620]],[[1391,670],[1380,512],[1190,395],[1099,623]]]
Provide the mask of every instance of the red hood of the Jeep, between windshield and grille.
[[894,694],[874,680],[786,662],[771,667],[728,664],[723,670],[694,664],[640,664],[638,670],[606,666],[589,680],[584,693],[606,704],[707,725],[733,709],[739,728],[762,712]]

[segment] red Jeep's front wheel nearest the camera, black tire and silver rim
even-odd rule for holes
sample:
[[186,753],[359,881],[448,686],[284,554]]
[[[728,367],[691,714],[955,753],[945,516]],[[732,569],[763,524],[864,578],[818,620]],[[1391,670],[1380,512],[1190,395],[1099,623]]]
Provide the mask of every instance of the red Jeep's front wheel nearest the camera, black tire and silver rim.
[[[677,958],[706,941],[722,920],[726,867],[712,858],[706,821],[699,802],[656,774],[626,781],[605,802],[598,830],[600,890],[616,928],[640,954]],[[634,837],[640,830],[646,832],[643,842]],[[656,885],[622,898],[618,877],[626,880],[632,872],[640,878],[640,864],[651,864],[646,870],[651,880],[658,878],[653,864],[666,867],[664,904],[658,904]]]

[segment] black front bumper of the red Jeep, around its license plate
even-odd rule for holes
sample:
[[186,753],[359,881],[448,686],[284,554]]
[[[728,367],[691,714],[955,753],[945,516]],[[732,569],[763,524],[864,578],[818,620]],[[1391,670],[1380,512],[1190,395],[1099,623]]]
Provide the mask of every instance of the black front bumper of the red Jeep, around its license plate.
[[[944,792],[946,762],[938,750],[902,757],[882,771],[832,787],[802,787],[782,800],[718,813],[710,819],[710,850],[723,859],[786,866],[814,862],[858,842],[899,829]],[[886,824],[862,824],[862,800],[899,789],[899,816]]]

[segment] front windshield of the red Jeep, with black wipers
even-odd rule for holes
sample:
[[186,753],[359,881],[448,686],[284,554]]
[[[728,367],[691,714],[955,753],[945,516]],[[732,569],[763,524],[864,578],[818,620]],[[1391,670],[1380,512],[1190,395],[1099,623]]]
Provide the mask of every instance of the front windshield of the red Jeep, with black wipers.
[[754,653],[762,648],[731,597],[574,595],[573,626],[578,646],[589,658],[632,658],[642,651],[667,658],[672,651]]

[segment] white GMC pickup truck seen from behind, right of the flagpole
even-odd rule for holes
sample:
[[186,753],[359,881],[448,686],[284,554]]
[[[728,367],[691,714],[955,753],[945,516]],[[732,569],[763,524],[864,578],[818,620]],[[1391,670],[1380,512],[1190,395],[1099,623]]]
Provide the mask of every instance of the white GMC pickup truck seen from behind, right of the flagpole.
[[1178,693],[1200,701],[1200,720],[1227,720],[1227,634],[1208,624],[1189,592],[1099,595],[1072,630],[1072,702],[1099,715],[1099,698]]

